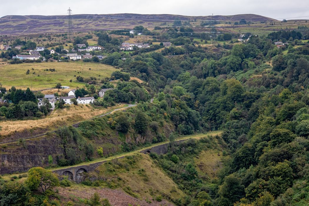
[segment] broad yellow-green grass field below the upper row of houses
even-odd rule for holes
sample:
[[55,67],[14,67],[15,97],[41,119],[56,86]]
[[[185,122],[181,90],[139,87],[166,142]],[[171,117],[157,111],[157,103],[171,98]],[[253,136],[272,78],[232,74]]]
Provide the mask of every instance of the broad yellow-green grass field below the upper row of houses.
[[[83,61],[6,64],[0,65],[0,69],[2,87],[7,89],[11,88],[11,86],[22,89],[29,87],[32,90],[52,88],[58,82],[62,86],[70,86],[71,89],[83,87],[85,83],[76,82],[74,75],[84,78],[103,79],[110,77],[112,72],[117,70],[109,65]],[[28,69],[30,73],[27,75]],[[45,69],[56,69],[56,71],[45,71]],[[72,82],[70,82],[71,79]]]

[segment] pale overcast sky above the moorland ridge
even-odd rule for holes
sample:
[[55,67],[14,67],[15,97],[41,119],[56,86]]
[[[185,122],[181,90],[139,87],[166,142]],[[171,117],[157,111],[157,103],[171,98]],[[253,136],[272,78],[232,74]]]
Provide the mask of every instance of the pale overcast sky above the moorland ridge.
[[[14,3],[13,3],[14,2]],[[309,19],[309,0],[0,0],[0,16],[73,14],[178,14],[190,16],[257,14],[274,19]]]

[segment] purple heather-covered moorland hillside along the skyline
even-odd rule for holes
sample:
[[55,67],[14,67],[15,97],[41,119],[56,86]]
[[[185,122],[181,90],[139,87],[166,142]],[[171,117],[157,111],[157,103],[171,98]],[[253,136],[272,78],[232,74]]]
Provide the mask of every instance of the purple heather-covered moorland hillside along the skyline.
[[[144,27],[172,26],[175,19],[182,21],[195,22],[193,26],[199,26],[201,21],[271,21],[276,19],[254,15],[216,15],[216,16],[183,16],[170,14],[78,14],[73,16],[73,31],[93,31],[93,30],[112,30],[112,29],[132,29],[137,25]],[[0,35],[24,35],[38,33],[59,33],[67,31],[66,15],[7,15],[0,18]]]

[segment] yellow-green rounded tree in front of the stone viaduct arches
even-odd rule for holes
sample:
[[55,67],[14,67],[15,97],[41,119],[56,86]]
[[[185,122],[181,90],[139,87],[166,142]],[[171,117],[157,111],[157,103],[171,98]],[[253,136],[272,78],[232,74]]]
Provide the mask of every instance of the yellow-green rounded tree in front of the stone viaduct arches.
[[58,186],[59,180],[56,174],[50,170],[45,170],[42,167],[33,167],[28,171],[26,184],[31,190],[36,190],[41,187],[42,191],[45,192],[48,189]]

